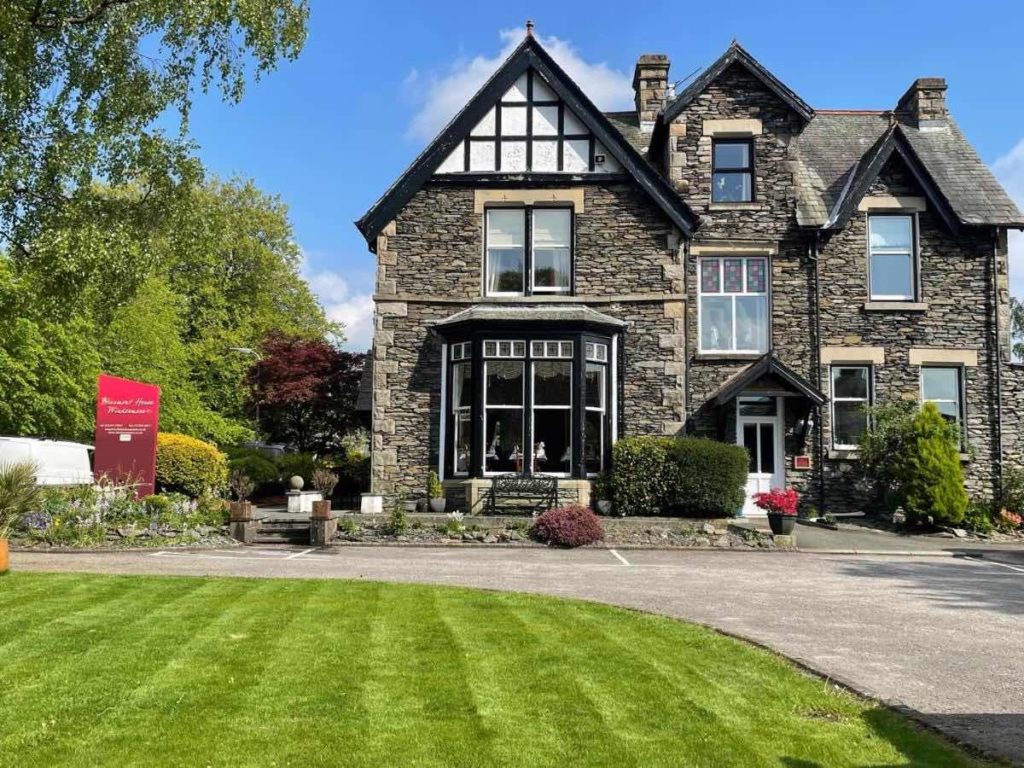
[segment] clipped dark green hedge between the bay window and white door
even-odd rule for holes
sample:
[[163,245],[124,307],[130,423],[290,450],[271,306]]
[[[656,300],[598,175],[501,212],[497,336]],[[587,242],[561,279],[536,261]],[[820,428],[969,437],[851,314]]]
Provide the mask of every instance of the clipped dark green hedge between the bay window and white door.
[[611,489],[625,515],[732,517],[743,505],[748,456],[700,437],[627,437],[612,453]]

